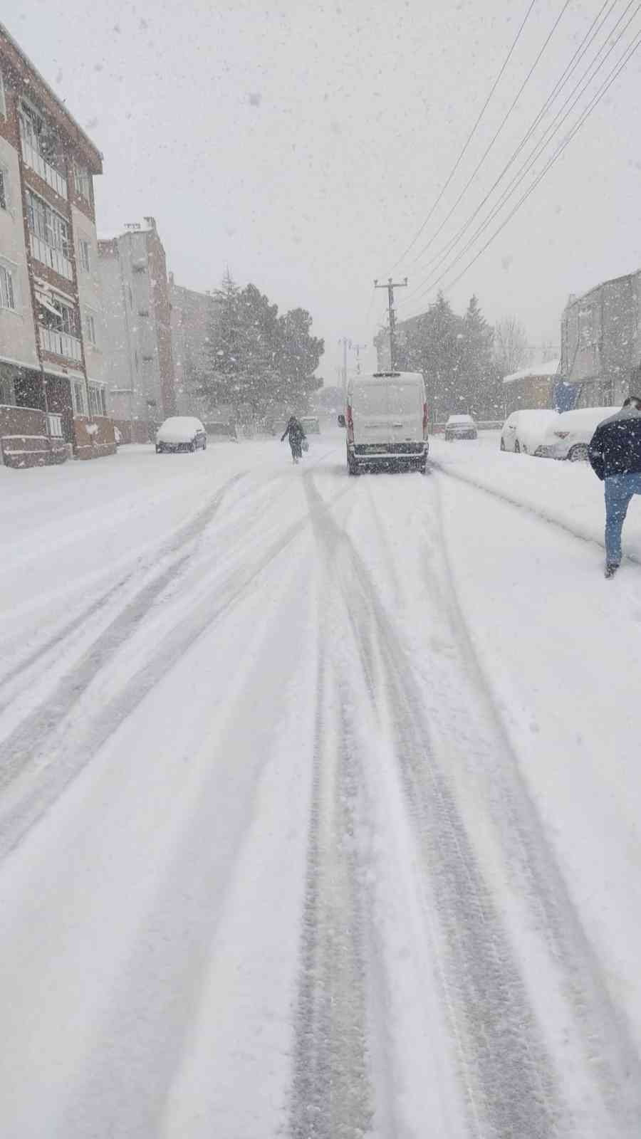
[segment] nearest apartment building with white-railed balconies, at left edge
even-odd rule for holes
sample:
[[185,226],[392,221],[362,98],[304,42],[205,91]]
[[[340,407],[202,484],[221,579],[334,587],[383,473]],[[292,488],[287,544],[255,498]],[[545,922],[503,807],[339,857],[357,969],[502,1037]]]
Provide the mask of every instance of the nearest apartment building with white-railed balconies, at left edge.
[[115,451],[94,199],[102,171],[95,145],[0,24],[0,445],[9,465]]

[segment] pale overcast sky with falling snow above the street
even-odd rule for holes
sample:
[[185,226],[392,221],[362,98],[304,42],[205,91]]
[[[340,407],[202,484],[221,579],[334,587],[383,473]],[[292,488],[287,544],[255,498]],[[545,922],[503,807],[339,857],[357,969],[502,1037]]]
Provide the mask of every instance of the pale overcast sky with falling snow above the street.
[[[627,7],[609,2],[609,21],[571,85]],[[21,0],[1,18],[104,154],[98,231],[152,214],[179,284],[216,288],[229,265],[240,284],[253,281],[282,310],[309,309],[326,343],[319,374],[334,383],[339,338],[371,344],[382,320],[386,293],[374,293],[374,277],[387,279],[393,267],[395,279],[409,278],[398,292],[399,319],[433,300],[433,290],[416,288],[430,281],[430,260],[477,208],[602,8],[602,0],[568,5],[486,162],[429,244],[566,3],[536,0],[455,178],[396,263],[529,3]],[[641,16],[577,112],[639,31]],[[533,344],[558,343],[569,293],[639,268],[640,72],[641,50],[487,252],[447,287],[504,214],[446,274],[457,311],[476,293],[492,322],[516,314]]]

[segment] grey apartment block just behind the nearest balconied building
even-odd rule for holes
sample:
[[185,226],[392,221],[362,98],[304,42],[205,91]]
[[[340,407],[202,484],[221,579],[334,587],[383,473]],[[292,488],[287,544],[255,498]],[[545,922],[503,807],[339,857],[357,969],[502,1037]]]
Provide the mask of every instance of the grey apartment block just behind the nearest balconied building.
[[154,218],[98,241],[108,351],[105,379],[123,441],[176,415],[167,259]]

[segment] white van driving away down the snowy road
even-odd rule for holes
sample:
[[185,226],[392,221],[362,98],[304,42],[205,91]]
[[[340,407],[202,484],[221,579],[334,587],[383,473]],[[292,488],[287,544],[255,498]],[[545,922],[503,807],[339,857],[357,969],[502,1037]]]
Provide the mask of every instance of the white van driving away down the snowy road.
[[350,475],[374,466],[425,473],[428,404],[420,371],[354,376],[339,424],[347,427]]

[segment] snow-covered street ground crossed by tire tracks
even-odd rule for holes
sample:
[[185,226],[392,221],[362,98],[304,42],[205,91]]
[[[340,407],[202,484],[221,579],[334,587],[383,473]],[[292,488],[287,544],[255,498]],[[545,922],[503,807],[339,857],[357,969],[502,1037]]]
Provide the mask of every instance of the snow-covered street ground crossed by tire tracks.
[[0,468],[0,1131],[638,1139],[641,500]]

